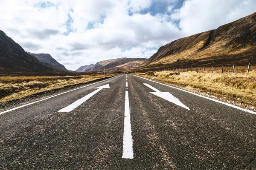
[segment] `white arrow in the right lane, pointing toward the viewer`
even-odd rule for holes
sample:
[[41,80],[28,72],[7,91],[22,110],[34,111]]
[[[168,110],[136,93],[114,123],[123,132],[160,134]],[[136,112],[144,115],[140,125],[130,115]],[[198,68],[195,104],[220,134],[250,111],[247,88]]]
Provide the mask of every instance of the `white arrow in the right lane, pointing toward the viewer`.
[[151,85],[148,85],[147,83],[143,83],[143,85],[146,85],[148,86],[149,88],[151,88],[153,91],[156,91],[156,92],[149,92],[151,94],[154,94],[158,97],[161,97],[163,99],[166,99],[168,100],[169,102],[172,102],[174,103],[175,105],[178,105],[178,106],[181,106],[183,108],[186,108],[187,110],[190,110],[188,107],[186,107],[185,105],[183,105],[182,102],[180,102],[179,99],[177,99],[175,96],[173,96],[172,94],[170,94],[169,92],[161,92],[159,90],[157,90],[156,88],[152,87]]

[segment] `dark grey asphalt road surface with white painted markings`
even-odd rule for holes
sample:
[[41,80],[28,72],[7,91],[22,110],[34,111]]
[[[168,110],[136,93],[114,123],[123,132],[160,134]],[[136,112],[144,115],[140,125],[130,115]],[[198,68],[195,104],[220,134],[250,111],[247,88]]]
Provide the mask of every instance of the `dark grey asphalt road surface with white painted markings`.
[[256,169],[256,114],[120,75],[0,113],[0,169]]

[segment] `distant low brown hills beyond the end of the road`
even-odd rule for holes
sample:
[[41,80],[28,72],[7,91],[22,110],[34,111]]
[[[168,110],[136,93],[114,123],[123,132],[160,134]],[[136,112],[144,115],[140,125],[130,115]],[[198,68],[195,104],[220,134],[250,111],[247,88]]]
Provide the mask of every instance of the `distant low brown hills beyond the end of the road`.
[[[122,70],[122,69],[136,68],[142,65],[143,62],[145,62],[145,60],[146,60],[145,58],[108,59],[108,60],[97,62],[90,69],[86,69],[84,72],[103,71],[104,68],[105,70]],[[77,69],[76,71],[78,71],[79,69]]]

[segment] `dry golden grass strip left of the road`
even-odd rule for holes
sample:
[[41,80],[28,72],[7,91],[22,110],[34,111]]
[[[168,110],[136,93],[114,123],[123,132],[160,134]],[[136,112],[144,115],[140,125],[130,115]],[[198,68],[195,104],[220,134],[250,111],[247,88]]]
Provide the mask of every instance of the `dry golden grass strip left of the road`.
[[68,85],[87,83],[108,75],[0,77],[0,103],[19,99],[43,91],[63,88]]

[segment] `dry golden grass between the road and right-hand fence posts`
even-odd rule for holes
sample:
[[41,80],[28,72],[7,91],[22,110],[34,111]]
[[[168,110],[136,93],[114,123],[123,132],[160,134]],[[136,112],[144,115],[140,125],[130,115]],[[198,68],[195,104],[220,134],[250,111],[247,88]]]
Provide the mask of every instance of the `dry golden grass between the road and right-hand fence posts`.
[[137,75],[255,110],[256,67],[251,67],[248,75],[247,67],[235,68],[234,74],[232,70],[232,67],[226,67],[221,74],[221,68],[215,68],[213,73],[212,68],[206,68],[205,73],[203,68],[198,68],[198,73],[196,68],[193,68],[192,72],[190,68],[188,72],[186,68],[183,69],[184,72],[182,68],[180,72],[177,68],[177,73],[175,69],[175,72],[148,71]]

